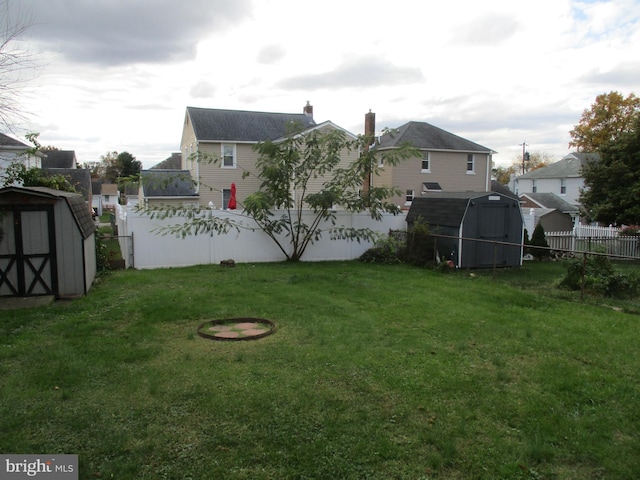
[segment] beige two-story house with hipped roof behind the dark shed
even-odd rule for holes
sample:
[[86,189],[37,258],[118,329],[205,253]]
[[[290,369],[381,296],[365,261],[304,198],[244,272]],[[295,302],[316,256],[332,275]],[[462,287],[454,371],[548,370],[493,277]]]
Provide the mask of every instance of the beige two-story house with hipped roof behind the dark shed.
[[491,161],[496,153],[426,122],[409,122],[380,136],[376,149],[384,151],[409,142],[421,156],[397,165],[380,165],[373,186],[393,185],[402,195],[392,201],[408,209],[415,197],[429,192],[490,192]]

